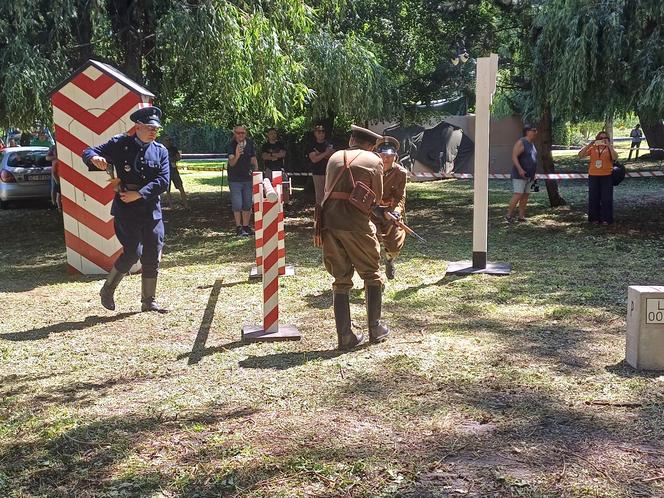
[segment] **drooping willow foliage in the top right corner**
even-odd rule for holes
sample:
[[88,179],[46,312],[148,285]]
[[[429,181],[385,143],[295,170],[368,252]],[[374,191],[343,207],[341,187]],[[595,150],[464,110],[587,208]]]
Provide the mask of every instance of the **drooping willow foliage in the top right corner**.
[[535,21],[536,102],[560,117],[664,114],[657,0],[551,0]]

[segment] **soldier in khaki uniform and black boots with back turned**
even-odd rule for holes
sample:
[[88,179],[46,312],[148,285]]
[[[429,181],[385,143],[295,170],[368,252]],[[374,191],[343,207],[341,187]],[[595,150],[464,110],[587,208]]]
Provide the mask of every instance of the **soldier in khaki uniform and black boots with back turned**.
[[[380,135],[353,125],[349,148],[335,152],[327,164],[322,200],[320,242],[325,268],[334,277],[333,305],[338,348],[350,350],[363,340],[351,330],[348,294],[353,273],[364,280],[369,340],[382,342],[389,330],[380,323],[383,281],[380,275],[380,244],[369,214],[350,202],[354,182],[369,187],[376,199],[383,196],[383,164],[371,152]],[[318,242],[318,241],[316,241]]]

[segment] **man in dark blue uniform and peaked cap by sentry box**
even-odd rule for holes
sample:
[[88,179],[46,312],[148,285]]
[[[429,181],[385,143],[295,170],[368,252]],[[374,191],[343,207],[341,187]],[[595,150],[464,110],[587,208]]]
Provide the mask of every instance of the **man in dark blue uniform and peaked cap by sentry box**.
[[[161,110],[144,107],[129,116],[135,134],[116,135],[108,142],[88,147],[83,161],[91,171],[105,170],[116,184],[111,207],[115,235],[122,254],[111,268],[100,291],[104,308],[115,310],[115,289],[140,259],[142,266],[141,310],[165,313],[155,301],[157,274],[164,246],[160,196],[168,189],[168,151],[155,142],[161,127]],[[115,175],[117,178],[113,178]]]

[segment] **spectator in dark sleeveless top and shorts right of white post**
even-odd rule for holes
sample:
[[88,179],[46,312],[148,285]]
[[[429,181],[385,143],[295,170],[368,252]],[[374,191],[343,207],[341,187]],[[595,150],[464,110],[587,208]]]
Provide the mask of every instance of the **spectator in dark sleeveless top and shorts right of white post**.
[[512,148],[512,190],[514,195],[507,206],[508,223],[514,222],[514,209],[519,206],[519,221],[526,221],[526,205],[531,188],[535,184],[537,173],[537,149],[535,148],[537,128],[533,125],[523,127],[523,137]]

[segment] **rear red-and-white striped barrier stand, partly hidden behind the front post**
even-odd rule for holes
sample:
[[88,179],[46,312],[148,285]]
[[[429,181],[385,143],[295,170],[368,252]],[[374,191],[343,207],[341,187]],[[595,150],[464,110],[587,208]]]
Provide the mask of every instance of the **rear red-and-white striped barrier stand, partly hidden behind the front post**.
[[[256,237],[256,265],[249,272],[249,278],[260,278],[263,261],[263,213],[260,210],[263,173],[254,171],[252,175],[252,192],[254,208],[254,232]],[[272,185],[279,196],[279,275],[286,277],[295,274],[293,265],[286,264],[286,230],[284,227],[284,190],[281,171],[272,172]]]

